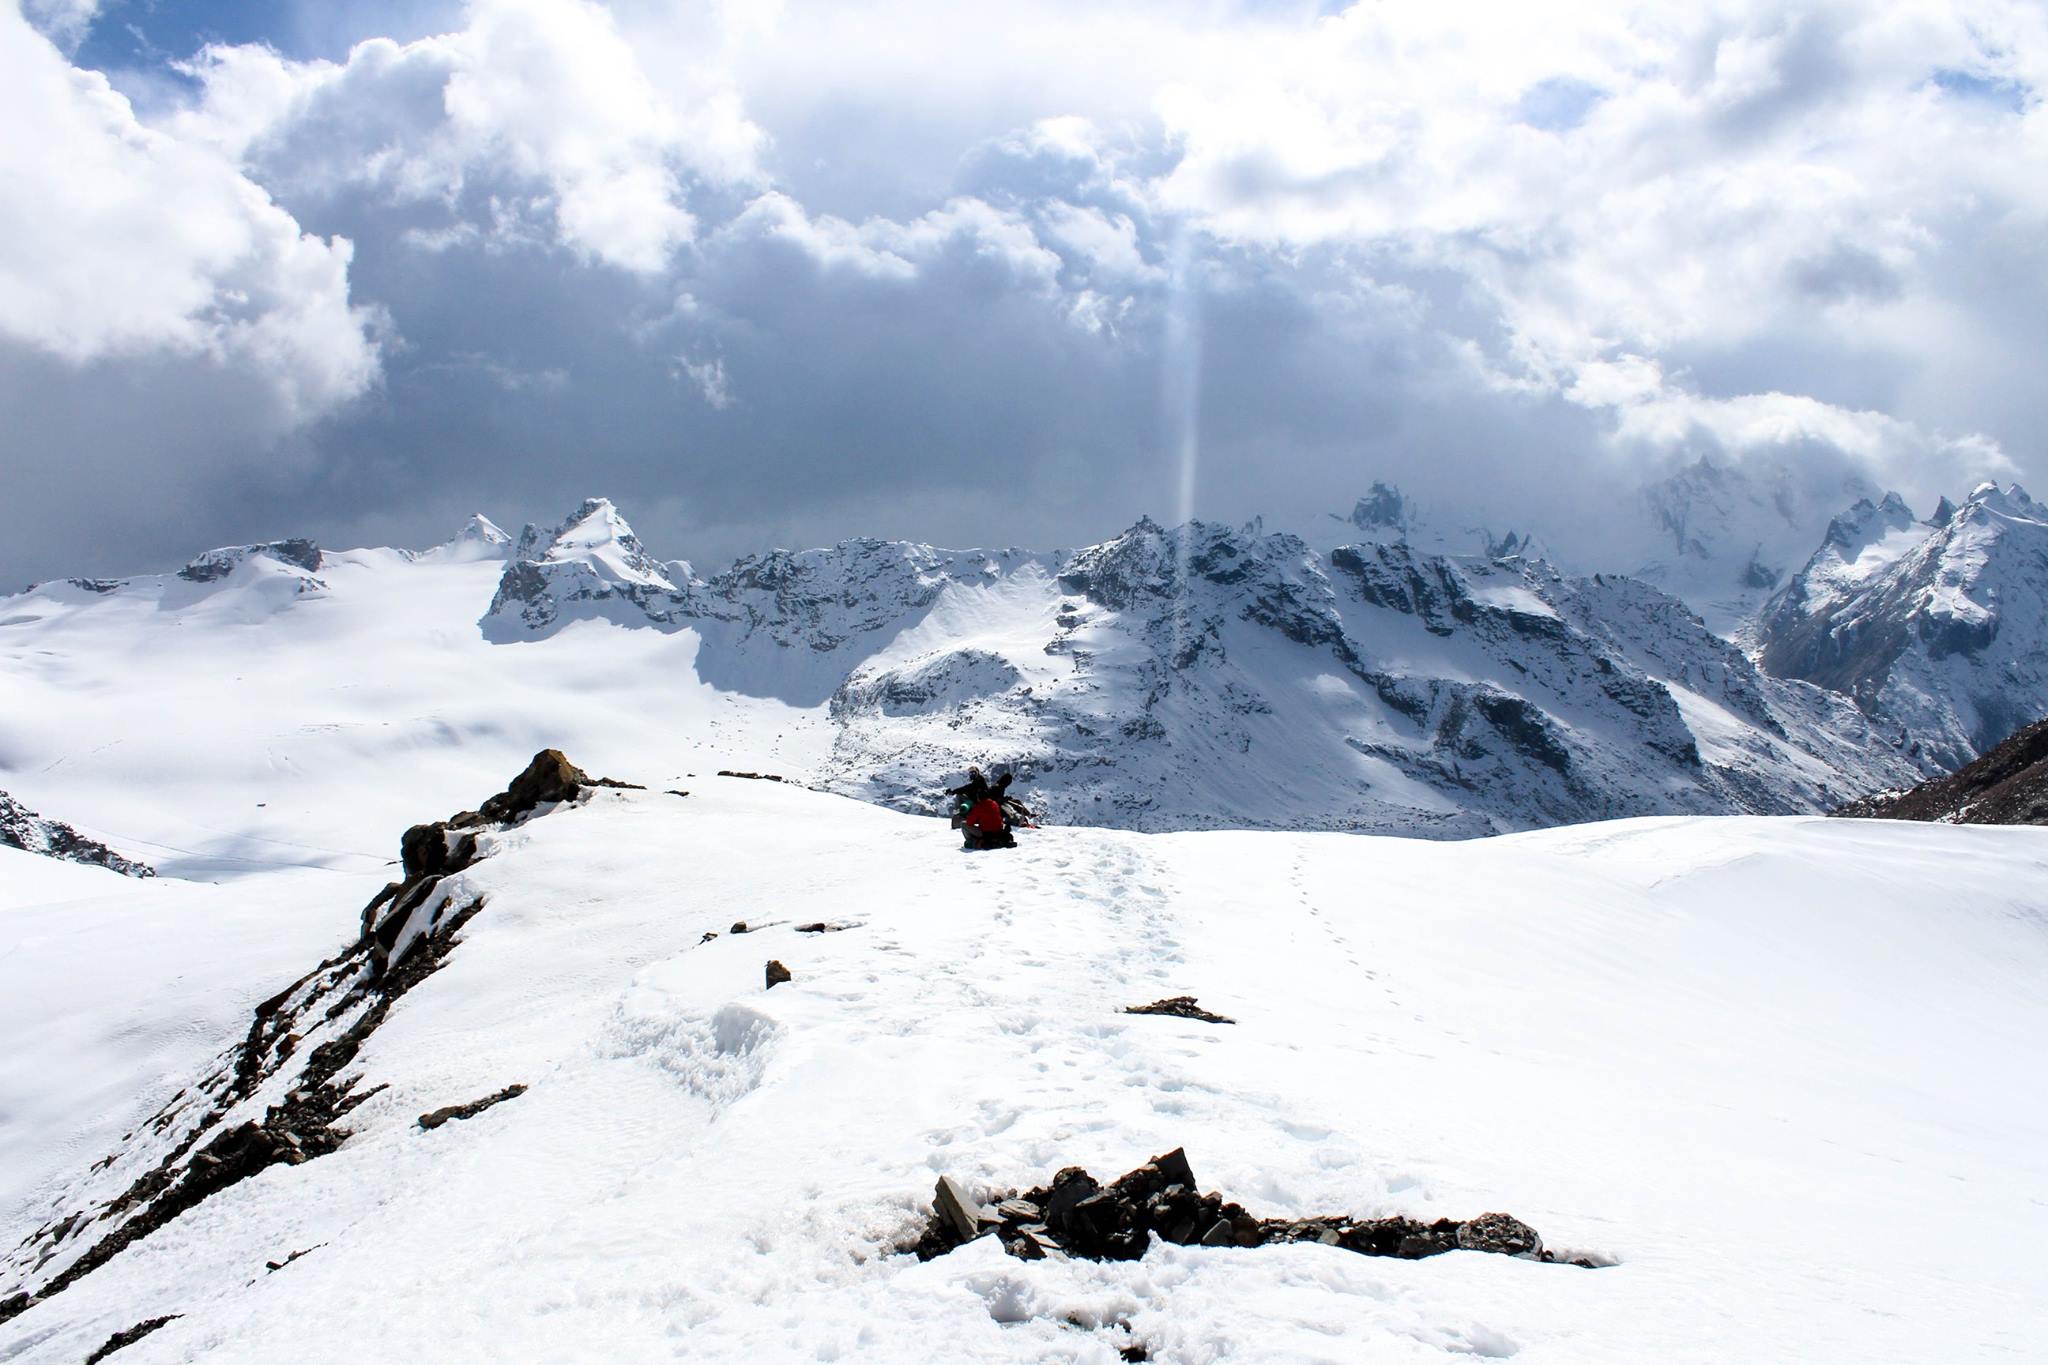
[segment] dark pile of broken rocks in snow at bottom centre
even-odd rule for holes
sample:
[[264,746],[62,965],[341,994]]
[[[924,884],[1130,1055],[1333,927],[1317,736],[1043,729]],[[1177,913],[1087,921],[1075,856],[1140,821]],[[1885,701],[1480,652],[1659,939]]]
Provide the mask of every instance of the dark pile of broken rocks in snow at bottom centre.
[[1083,1257],[1137,1261],[1157,1234],[1178,1246],[1272,1246],[1321,1242],[1364,1257],[1419,1261],[1446,1250],[1487,1250],[1526,1261],[1593,1267],[1585,1257],[1561,1257],[1520,1218],[1481,1214],[1458,1222],[1440,1218],[1255,1218],[1223,1195],[1198,1193],[1188,1154],[1174,1148],[1128,1175],[1100,1185],[1087,1171],[1067,1166],[1024,1193],[1008,1191],[993,1205],[981,1203],[952,1177],[940,1177],[932,1220],[909,1248],[920,1261],[993,1232],[1004,1250],[1024,1261]]

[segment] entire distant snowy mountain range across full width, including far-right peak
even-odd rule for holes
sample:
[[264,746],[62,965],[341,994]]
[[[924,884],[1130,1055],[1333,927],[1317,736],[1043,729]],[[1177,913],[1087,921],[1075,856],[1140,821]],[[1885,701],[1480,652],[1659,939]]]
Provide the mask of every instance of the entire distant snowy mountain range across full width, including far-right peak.
[[[516,540],[479,516],[426,553],[279,540],[174,575],[39,585],[0,600],[0,643],[33,636],[37,659],[82,649],[78,675],[121,667],[143,649],[137,632],[174,624],[166,639],[193,661],[209,641],[221,659],[262,643],[303,653],[293,677],[387,679],[395,665],[375,653],[397,626],[373,622],[401,610],[420,647],[461,651],[473,673],[434,694],[436,733],[455,735],[434,743],[510,743],[506,688],[477,679],[516,673],[530,692],[520,743],[547,739],[551,714],[571,726],[602,712],[606,733],[682,753],[676,731],[713,714],[702,706],[743,706],[702,724],[829,790],[924,810],[969,763],[1014,765],[1044,819],[1128,829],[1468,837],[1827,810],[2048,714],[2048,512],[1993,485],[1929,520],[1894,495],[1860,497],[1786,571],[1808,493],[1706,463],[1645,493],[1647,524],[1669,534],[1645,575],[1688,585],[1710,614],[1747,610],[1718,632],[1645,575],[1569,571],[1520,528],[1434,530],[1374,485],[1307,534],[1141,520],[1079,551],[846,540],[709,577],[657,559],[596,497]],[[322,622],[356,634],[324,636]],[[633,645],[641,634],[674,636],[686,663]],[[557,702],[532,692],[545,677],[526,651],[545,641],[580,669]],[[664,692],[678,710],[649,714]],[[215,753],[260,745],[305,772],[285,755],[317,747],[319,708],[270,698],[262,735],[244,714],[209,722]]]

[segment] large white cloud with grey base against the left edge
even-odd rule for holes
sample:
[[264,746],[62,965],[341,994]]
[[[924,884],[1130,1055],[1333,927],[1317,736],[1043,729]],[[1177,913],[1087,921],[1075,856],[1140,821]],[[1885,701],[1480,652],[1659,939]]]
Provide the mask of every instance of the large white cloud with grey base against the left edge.
[[12,6],[0,125],[0,409],[23,512],[0,569],[82,536],[174,553],[203,483],[303,467],[293,442],[379,383],[383,317],[350,297],[350,241],[137,123]]

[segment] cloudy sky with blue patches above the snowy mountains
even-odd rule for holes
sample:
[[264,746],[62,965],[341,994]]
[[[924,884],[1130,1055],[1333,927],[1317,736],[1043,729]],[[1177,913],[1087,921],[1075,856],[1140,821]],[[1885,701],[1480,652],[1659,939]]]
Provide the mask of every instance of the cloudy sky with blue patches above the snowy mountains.
[[2048,483],[2036,0],[0,6],[10,587]]

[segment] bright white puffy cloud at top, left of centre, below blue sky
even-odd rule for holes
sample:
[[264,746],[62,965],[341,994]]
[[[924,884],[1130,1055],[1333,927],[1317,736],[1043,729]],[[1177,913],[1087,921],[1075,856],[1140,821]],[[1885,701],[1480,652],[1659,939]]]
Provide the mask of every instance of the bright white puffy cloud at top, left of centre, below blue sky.
[[717,78],[655,90],[588,0],[475,0],[455,33],[346,61],[209,47],[186,72],[205,88],[186,135],[285,192],[442,203],[440,235],[420,237],[442,246],[516,237],[535,209],[582,258],[655,274],[696,235],[686,180],[762,180],[766,139],[737,96]]

